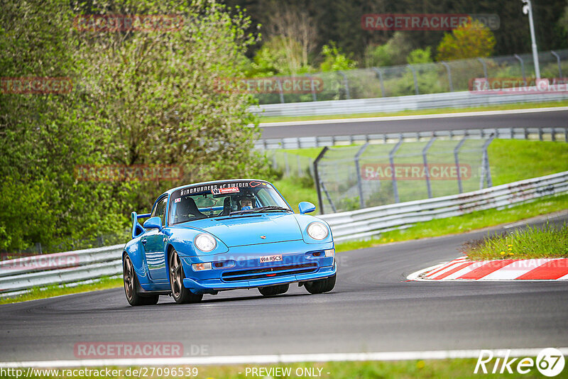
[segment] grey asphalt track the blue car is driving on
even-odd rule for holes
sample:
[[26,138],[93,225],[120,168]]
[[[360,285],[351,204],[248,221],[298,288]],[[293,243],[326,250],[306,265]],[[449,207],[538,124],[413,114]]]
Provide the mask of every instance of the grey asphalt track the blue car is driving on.
[[239,290],[130,307],[119,288],[1,305],[0,361],[74,359],[84,341],[181,342],[186,356],[568,346],[568,282],[406,281],[487,233],[339,253],[337,285],[322,295]]

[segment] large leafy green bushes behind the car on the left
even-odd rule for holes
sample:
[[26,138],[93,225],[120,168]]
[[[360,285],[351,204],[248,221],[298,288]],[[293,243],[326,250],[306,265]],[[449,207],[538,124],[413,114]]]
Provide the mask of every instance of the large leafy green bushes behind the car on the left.
[[[250,21],[212,0],[4,1],[0,72],[71,77],[71,94],[0,94],[0,249],[128,228],[164,189],[268,175],[241,77]],[[79,14],[180,14],[178,31],[82,31]],[[181,165],[182,180],[87,182],[77,165]]]

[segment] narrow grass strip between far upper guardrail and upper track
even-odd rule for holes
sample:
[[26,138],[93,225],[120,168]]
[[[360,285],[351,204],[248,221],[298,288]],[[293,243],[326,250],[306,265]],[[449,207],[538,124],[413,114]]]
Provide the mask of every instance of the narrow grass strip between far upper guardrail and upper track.
[[506,111],[509,109],[548,108],[550,106],[568,106],[568,100],[546,101],[543,103],[515,103],[491,106],[474,106],[470,108],[437,108],[423,110],[408,110],[398,112],[375,112],[361,114],[332,114],[322,116],[261,116],[261,122],[285,122],[285,121],[310,121],[310,120],[334,120],[334,119],[361,119],[365,117],[388,117],[388,116],[415,116],[419,114],[444,114],[475,111]]

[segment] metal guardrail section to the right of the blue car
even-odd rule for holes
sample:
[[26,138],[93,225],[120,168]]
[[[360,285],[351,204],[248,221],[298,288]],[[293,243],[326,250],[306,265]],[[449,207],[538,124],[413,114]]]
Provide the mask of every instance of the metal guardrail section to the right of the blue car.
[[452,196],[388,204],[351,212],[320,215],[332,228],[334,241],[364,239],[384,231],[406,229],[417,222],[506,208],[539,197],[568,192],[568,171]]

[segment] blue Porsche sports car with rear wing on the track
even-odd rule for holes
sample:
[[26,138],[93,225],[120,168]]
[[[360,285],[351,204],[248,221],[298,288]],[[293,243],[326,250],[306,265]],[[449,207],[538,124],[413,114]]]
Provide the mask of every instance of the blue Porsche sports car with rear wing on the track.
[[294,282],[312,294],[333,290],[332,231],[307,215],[314,204],[300,202],[298,208],[294,214],[264,180],[170,189],[151,213],[132,212],[132,239],[122,254],[126,299],[146,305],[172,295],[182,304],[239,288],[273,296]]

